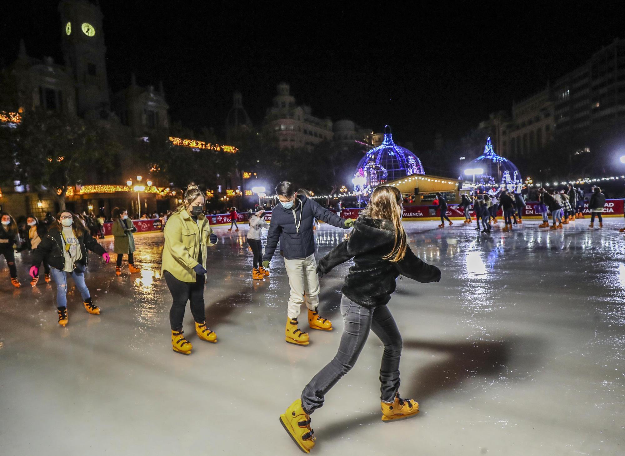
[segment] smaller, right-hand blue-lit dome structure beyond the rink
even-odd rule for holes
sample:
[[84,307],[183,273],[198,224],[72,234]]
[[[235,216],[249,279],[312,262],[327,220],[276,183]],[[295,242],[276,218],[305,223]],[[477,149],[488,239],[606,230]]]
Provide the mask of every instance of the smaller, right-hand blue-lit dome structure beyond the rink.
[[486,140],[484,153],[466,165],[463,176],[459,179],[472,181],[473,176],[475,176],[476,186],[491,187],[489,189],[491,193],[499,191],[500,188],[520,192],[523,186],[519,169],[514,166],[514,163],[498,156],[492,150],[490,137]]

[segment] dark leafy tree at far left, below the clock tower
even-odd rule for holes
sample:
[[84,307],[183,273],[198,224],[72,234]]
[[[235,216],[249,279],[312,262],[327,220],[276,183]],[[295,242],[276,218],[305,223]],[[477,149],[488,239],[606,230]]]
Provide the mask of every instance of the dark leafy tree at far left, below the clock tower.
[[69,187],[81,184],[94,169],[111,169],[121,151],[110,124],[62,112],[27,111],[19,127],[0,130],[0,148],[11,155],[14,179],[41,187],[61,210]]

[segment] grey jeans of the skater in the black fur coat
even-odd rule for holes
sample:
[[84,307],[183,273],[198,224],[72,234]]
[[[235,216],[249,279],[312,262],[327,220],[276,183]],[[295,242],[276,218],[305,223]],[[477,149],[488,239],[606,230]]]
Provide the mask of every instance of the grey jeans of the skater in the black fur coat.
[[341,315],[344,329],[336,356],[312,377],[302,391],[302,406],[308,414],[323,405],[326,393],[354,367],[369,337],[369,330],[373,330],[384,344],[380,367],[381,400],[393,402],[399,390],[399,357],[401,357],[402,340],[388,307],[380,305],[374,309],[367,309],[343,296]]

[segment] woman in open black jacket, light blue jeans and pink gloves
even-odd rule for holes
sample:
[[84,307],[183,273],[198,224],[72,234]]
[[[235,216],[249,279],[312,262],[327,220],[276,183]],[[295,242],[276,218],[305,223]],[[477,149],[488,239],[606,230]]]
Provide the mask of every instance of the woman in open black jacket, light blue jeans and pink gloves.
[[68,324],[68,275],[83,297],[85,310],[92,315],[99,315],[100,308],[93,304],[91,293],[84,283],[84,271],[89,262],[87,250],[101,255],[109,262],[109,254],[72,212],[63,211],[56,217],[47,235],[39,242],[32,255],[30,275],[34,279],[39,275],[39,265],[44,260],[50,265],[52,279],[56,283],[56,308],[59,325]]

